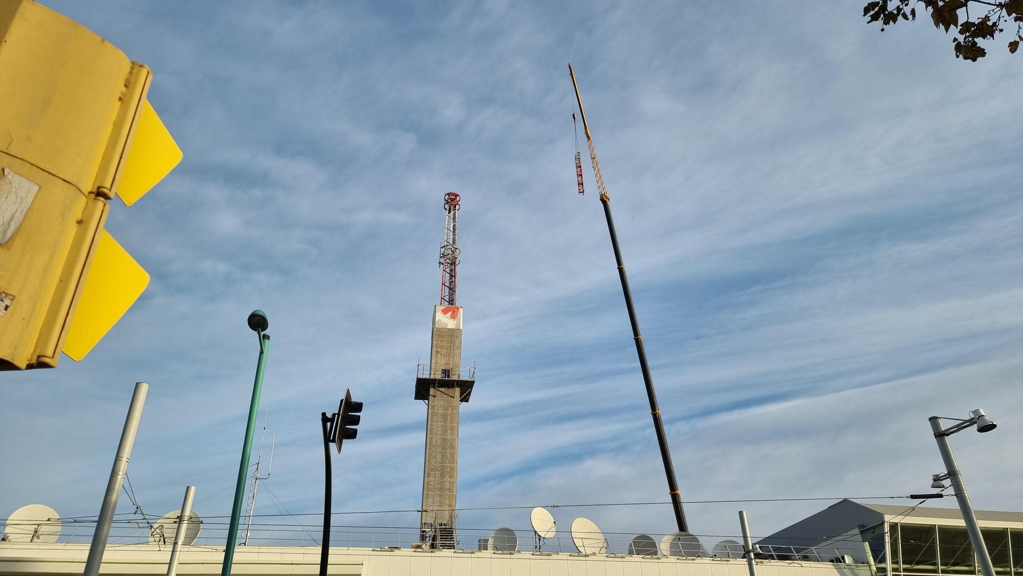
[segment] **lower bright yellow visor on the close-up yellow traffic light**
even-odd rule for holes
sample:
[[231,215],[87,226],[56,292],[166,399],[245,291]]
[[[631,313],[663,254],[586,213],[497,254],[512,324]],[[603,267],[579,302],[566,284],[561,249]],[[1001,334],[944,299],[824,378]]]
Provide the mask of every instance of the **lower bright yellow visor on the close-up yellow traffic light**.
[[114,236],[102,230],[89,275],[71,321],[63,352],[81,360],[131,308],[149,283],[149,274]]

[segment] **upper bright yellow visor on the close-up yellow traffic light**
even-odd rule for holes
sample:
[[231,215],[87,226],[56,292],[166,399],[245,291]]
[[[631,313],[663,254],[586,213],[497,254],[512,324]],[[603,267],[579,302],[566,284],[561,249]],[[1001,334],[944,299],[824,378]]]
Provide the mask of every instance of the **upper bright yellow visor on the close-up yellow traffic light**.
[[118,195],[131,206],[181,162],[181,148],[148,100],[142,102],[128,158],[118,182]]

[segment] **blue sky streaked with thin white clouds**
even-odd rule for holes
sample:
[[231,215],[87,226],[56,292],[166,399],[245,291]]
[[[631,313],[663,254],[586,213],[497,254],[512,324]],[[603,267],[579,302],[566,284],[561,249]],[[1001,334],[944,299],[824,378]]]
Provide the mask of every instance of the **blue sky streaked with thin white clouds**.
[[[138,303],[82,362],[3,375],[0,515],[96,514],[136,381],[145,512],[194,484],[201,515],[229,514],[254,308],[280,502],[261,491],[257,512],[321,509],[318,416],[346,387],[364,424],[335,457],[335,511],[418,507],[414,370],[448,190],[479,366],[459,505],[666,500],[588,166],[575,192],[569,61],[683,499],[926,491],[927,417],[982,406],[997,431],[952,440],[974,503],[1023,509],[1023,80],[1003,48],[963,62],[926,21],[881,33],[851,1],[46,5],[153,70],[184,161],[112,209],[152,276]],[[686,513],[733,536],[745,507],[765,535],[828,503]],[[525,532],[527,512],[459,522]],[[673,524],[669,506],[585,514]]]

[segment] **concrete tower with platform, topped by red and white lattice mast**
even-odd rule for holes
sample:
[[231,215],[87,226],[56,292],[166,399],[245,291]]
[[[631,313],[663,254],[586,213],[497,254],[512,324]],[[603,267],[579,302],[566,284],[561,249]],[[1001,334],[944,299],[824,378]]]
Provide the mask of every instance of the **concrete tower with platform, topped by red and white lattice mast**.
[[455,300],[458,200],[454,192],[444,195],[447,224],[440,253],[441,303],[434,306],[430,363],[420,364],[415,378],[415,399],[427,402],[419,541],[431,548],[455,547],[458,411],[476,382],[476,368],[461,365],[462,309]]

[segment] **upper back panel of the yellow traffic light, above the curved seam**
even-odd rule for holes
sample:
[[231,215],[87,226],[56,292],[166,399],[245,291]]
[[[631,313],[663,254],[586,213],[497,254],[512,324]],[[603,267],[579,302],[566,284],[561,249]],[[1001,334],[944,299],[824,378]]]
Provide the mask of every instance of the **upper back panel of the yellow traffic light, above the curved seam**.
[[0,23],[0,148],[88,193],[131,60],[41,4],[0,3],[8,16]]

